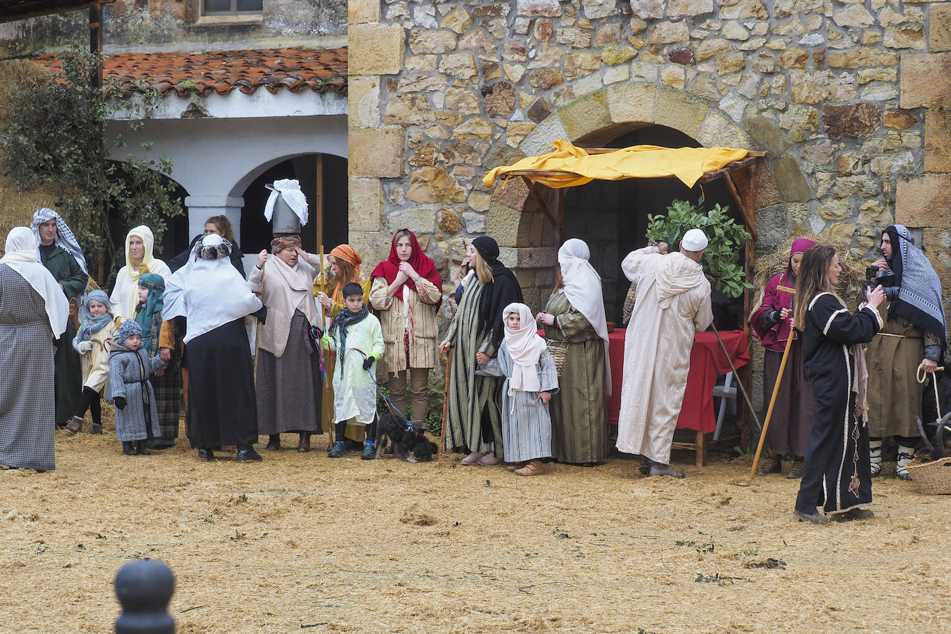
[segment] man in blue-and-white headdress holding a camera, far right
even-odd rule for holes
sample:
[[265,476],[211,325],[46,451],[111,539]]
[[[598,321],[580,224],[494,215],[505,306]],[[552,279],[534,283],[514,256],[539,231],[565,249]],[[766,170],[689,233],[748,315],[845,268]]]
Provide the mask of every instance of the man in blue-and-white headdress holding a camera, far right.
[[871,471],[872,477],[882,471],[883,438],[895,436],[895,473],[910,480],[905,465],[914,457],[918,442],[915,417],[922,415],[918,370],[933,373],[947,345],[941,281],[903,225],[885,227],[881,250],[883,259],[866,271],[874,278],[869,283],[882,284],[887,298],[884,327],[865,354]]

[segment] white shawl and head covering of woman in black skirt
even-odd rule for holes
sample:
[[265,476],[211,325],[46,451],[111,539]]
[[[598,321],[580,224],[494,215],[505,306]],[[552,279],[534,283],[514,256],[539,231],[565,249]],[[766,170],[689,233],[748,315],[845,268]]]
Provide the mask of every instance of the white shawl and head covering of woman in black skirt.
[[[217,247],[224,241],[217,234],[208,234],[196,245],[196,251]],[[193,253],[188,263],[165,282],[162,318],[188,320],[185,343],[262,307],[261,299],[254,297],[247,282],[231,265],[227,250],[221,253],[223,257],[218,259],[196,259]]]

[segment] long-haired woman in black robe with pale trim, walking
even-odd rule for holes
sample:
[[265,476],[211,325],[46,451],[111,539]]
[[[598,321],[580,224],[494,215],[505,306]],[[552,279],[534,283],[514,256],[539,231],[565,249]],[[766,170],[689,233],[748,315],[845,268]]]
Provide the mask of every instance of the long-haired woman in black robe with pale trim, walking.
[[[835,248],[808,249],[800,265],[793,323],[803,332],[803,364],[816,399],[816,413],[805,451],[803,479],[795,517],[822,524],[865,519],[861,507],[872,501],[872,476],[865,424],[865,358],[862,344],[882,328],[879,286],[867,289],[865,302],[849,313],[835,294],[842,266]],[[860,423],[861,420],[861,423]],[[824,507],[825,515],[816,507]]]

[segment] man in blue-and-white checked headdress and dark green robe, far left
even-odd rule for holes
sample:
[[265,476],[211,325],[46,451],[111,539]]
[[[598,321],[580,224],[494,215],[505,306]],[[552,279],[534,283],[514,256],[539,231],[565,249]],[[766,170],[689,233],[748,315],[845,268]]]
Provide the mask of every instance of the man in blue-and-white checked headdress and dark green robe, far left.
[[[43,207],[33,214],[29,225],[40,250],[40,261],[56,279],[70,301],[78,301],[86,292],[88,274],[86,258],[79,242],[66,221],[52,209]],[[71,418],[79,402],[83,370],[79,355],[72,349],[76,323],[69,319],[66,332],[58,342],[54,365],[56,367],[56,425],[63,427]]]

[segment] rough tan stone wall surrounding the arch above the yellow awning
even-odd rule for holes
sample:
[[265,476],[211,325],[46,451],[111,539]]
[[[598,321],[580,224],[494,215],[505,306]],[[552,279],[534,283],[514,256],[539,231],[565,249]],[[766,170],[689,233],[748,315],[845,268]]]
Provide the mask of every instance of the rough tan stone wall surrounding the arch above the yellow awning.
[[951,294],[951,2],[350,0],[349,22],[352,235],[376,256],[404,225],[447,267],[483,232],[551,249],[485,172],[663,123],[767,150],[761,253],[798,226],[871,255],[898,221]]

